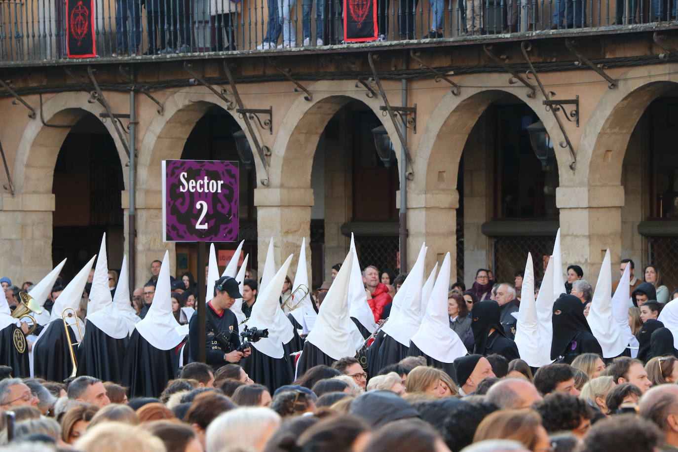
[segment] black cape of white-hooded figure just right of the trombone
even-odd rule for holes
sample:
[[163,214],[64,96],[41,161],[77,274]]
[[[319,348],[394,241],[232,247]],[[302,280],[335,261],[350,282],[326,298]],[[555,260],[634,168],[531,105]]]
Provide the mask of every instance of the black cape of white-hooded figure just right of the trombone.
[[123,382],[122,366],[127,350],[127,337],[114,339],[94,323],[87,322],[83,342],[78,348],[77,375],[89,375],[104,382]]

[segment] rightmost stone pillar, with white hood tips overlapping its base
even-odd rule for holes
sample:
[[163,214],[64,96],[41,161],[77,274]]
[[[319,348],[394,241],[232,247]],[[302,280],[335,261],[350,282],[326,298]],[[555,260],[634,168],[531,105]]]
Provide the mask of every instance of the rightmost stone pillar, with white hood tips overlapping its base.
[[610,249],[613,266],[620,260],[624,187],[558,187],[556,205],[563,272],[570,264],[579,265],[584,279],[595,285],[605,250]]

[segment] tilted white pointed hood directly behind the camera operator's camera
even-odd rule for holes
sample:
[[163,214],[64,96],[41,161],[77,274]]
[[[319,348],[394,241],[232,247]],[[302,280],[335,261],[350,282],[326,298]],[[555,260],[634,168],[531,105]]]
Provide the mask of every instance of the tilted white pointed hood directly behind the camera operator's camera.
[[[292,254],[257,297],[256,303],[252,305],[250,320],[247,321],[247,328],[268,328],[268,337],[264,337],[258,342],[252,342],[252,346],[263,354],[271,356],[271,358],[282,358],[285,354],[283,344],[290,342],[290,340],[283,342],[283,337],[289,337],[290,332],[294,335],[292,323],[280,308],[280,292],[283,289],[290,264],[292,264]],[[279,316],[280,313],[283,314],[282,321]]]

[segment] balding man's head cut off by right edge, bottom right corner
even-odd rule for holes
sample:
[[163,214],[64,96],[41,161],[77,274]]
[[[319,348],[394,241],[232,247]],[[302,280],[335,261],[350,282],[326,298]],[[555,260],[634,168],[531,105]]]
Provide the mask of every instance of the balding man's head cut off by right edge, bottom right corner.
[[662,451],[678,450],[678,386],[661,384],[643,394],[639,414],[654,422],[664,434]]

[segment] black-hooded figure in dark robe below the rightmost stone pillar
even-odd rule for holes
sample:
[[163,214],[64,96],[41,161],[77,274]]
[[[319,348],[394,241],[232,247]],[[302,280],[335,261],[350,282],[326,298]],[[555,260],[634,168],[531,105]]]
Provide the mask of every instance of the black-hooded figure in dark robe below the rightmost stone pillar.
[[[474,307],[475,308],[475,307]],[[603,349],[591,333],[582,311],[582,302],[574,295],[561,295],[553,304],[551,359],[570,364],[582,353],[603,356]]]

